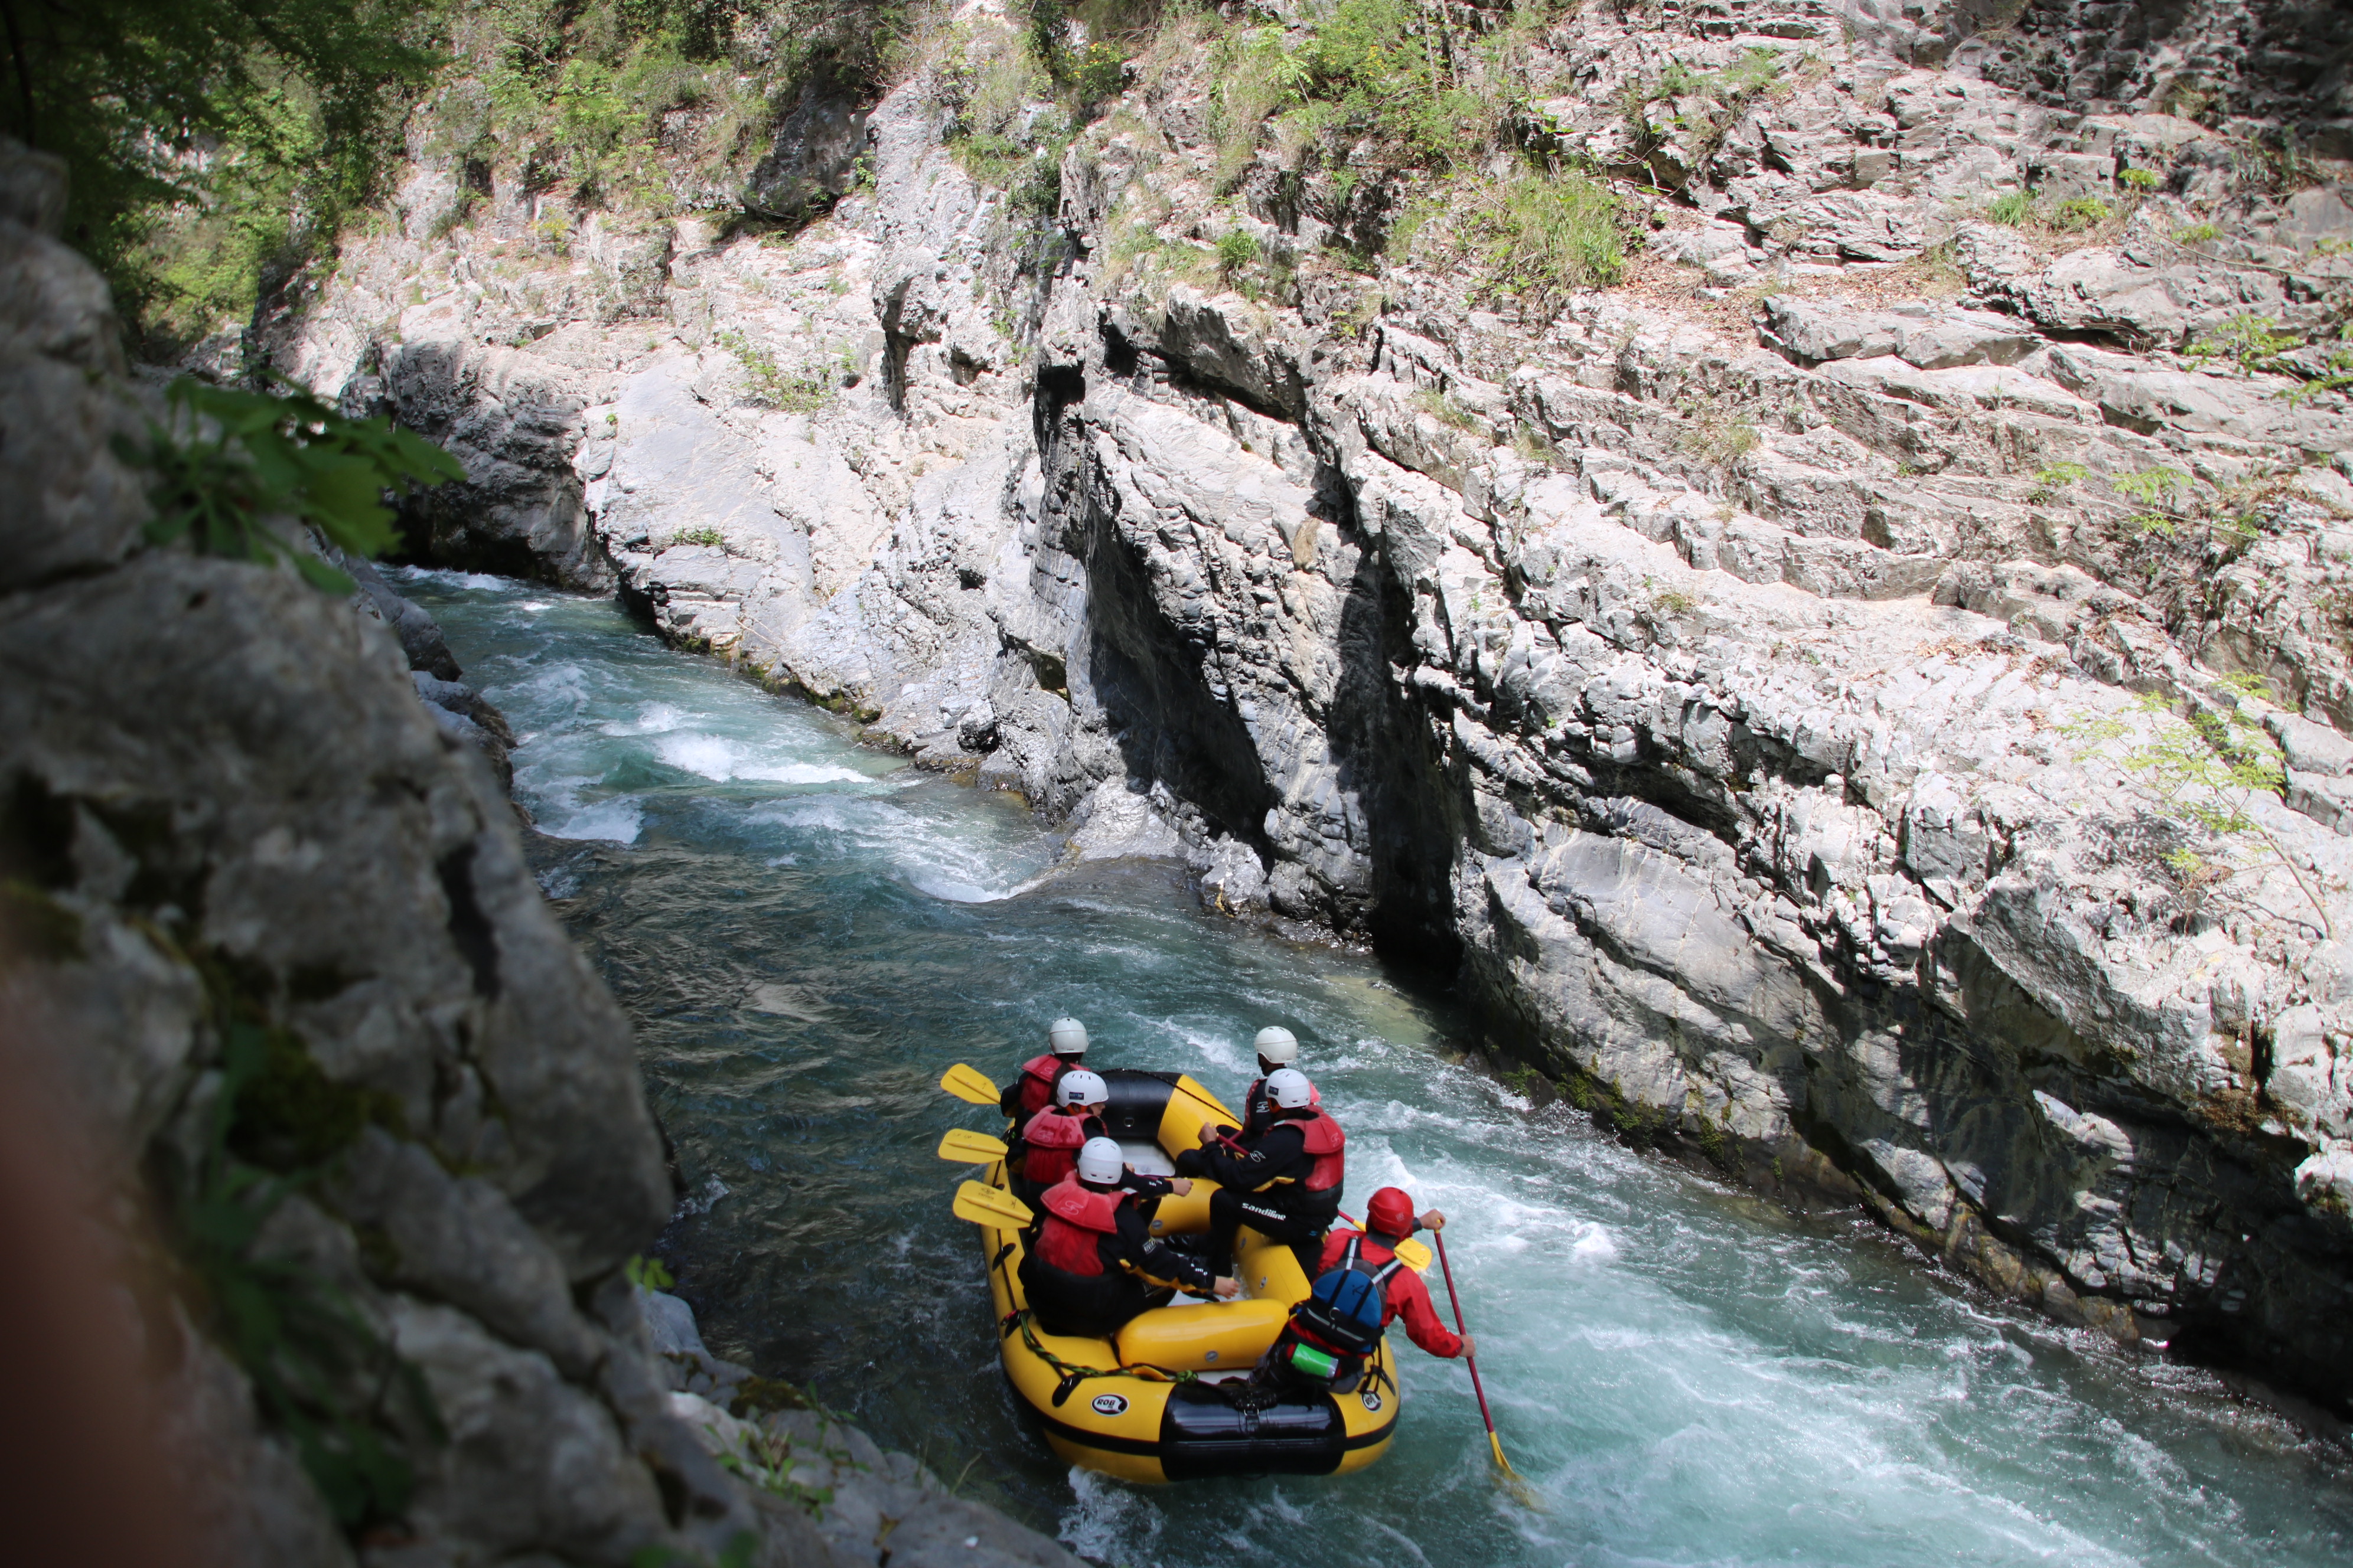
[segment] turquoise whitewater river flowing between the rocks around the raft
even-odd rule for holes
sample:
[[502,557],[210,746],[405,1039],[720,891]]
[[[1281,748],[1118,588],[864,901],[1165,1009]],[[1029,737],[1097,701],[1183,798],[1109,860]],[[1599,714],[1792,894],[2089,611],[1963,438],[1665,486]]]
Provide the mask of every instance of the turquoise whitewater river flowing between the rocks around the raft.
[[[664,1239],[713,1349],[807,1385],[1106,1563],[2346,1563],[2353,1474],[2214,1380],[1922,1274],[1532,1112],[1442,994],[1205,914],[1155,865],[1059,875],[1019,802],[666,651],[616,607],[407,574],[513,719],[541,884],[638,1025],[694,1187]],[[1348,1481],[1127,1488],[1045,1450],[998,1375],[951,1063],[1056,1013],[1101,1065],[1224,1093],[1264,1023],[1351,1135],[1348,1190],[1452,1218],[1504,1441],[1400,1349],[1398,1443]]]

